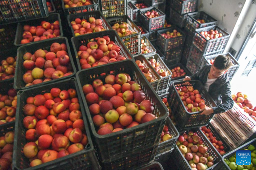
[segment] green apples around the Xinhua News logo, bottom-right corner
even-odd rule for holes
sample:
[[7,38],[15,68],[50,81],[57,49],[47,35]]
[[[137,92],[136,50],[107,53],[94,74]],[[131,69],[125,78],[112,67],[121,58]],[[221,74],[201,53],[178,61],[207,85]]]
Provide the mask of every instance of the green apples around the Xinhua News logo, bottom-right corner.
[[255,146],[250,144],[247,149],[251,152],[251,164],[250,165],[237,165],[236,154],[231,156],[229,159],[224,159],[225,163],[231,170],[255,170],[256,168],[256,149]]

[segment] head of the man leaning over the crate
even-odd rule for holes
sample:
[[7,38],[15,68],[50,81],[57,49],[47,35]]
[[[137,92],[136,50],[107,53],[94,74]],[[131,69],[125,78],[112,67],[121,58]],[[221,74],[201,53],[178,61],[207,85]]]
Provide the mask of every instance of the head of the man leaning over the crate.
[[213,77],[221,77],[231,67],[232,61],[229,56],[219,55],[215,58],[211,68],[211,74]]

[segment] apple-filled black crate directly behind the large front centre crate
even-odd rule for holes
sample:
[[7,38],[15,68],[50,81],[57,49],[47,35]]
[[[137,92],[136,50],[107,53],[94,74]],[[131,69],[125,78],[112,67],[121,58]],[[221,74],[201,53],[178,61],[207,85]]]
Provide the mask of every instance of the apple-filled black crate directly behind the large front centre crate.
[[71,41],[79,70],[134,59],[113,30],[84,34]]

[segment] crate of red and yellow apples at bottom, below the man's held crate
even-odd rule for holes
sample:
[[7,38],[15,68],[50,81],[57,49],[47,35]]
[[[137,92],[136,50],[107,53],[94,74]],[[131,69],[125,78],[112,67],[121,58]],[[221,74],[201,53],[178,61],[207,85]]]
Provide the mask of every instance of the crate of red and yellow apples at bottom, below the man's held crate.
[[182,170],[207,170],[221,161],[221,155],[198,128],[180,132],[172,158]]

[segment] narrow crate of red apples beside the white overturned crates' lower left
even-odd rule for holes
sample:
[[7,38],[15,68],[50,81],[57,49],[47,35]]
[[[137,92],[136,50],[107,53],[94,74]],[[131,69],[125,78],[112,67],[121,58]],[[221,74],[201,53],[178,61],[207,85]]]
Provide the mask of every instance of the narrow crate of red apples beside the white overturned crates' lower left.
[[207,126],[201,127],[202,132],[207,139],[212,143],[216,150],[222,155],[228,153],[231,149],[221,138],[219,133],[214,129],[211,123]]

